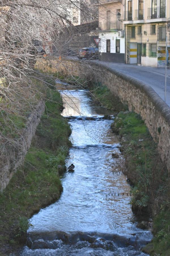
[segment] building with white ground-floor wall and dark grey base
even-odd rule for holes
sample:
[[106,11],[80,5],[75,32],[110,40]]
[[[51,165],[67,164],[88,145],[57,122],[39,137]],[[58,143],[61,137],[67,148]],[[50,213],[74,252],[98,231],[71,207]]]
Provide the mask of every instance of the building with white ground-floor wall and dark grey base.
[[98,6],[99,11],[100,60],[124,63],[124,24],[118,18],[118,14],[124,12],[124,0],[91,0],[91,3]]

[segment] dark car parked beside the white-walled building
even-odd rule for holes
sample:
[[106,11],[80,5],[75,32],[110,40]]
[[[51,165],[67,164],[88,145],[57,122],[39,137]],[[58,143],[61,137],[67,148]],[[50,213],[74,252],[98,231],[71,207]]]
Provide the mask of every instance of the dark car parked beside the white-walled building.
[[99,49],[94,47],[81,48],[78,52],[78,59],[98,59]]

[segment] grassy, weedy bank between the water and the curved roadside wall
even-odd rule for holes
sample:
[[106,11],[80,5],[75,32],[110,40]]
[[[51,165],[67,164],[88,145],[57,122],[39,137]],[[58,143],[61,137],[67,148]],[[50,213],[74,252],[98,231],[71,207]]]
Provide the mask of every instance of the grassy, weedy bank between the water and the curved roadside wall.
[[125,174],[133,184],[132,209],[138,214],[150,212],[153,216],[154,238],[143,251],[154,256],[169,256],[170,180],[158,154],[157,144],[141,116],[134,112],[120,112],[112,130],[122,137]]

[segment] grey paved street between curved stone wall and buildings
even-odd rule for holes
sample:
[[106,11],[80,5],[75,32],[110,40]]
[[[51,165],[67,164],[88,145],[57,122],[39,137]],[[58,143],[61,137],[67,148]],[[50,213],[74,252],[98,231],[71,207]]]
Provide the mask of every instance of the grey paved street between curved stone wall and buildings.
[[[97,64],[105,65],[111,69],[122,72],[129,77],[135,78],[149,86],[162,98],[165,99],[165,68],[143,67],[133,64],[112,63],[92,60]],[[167,67],[167,93],[166,104],[170,107],[170,69]]]

